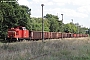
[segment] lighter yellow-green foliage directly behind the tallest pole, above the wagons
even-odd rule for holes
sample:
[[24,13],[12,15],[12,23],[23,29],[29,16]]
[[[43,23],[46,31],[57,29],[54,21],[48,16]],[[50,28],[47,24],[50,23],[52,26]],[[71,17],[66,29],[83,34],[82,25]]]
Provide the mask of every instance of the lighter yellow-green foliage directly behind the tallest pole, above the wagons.
[[[42,18],[31,18],[31,30],[42,31]],[[49,31],[48,20],[44,19],[44,31]]]

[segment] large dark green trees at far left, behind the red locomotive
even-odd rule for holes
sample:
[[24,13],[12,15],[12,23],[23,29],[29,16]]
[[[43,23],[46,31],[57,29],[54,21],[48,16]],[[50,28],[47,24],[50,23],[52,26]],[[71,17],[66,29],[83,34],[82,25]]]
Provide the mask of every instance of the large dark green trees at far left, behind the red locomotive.
[[21,6],[17,2],[8,2],[16,0],[5,1],[7,2],[0,1],[0,34],[6,35],[7,29],[15,26],[25,26],[30,29],[31,9]]

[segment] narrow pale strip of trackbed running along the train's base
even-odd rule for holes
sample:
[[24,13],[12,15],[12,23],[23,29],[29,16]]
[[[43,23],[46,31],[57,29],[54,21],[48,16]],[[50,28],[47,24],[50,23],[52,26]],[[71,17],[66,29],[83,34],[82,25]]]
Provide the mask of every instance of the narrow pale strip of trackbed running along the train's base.
[[[82,38],[63,38],[63,39],[45,39],[44,40],[44,43],[45,42],[53,42],[53,41],[63,41],[63,40],[89,40],[90,38],[89,37],[82,37]],[[42,40],[23,40],[23,41],[12,41],[12,42],[6,42],[6,41],[3,41],[3,40],[0,40],[1,43],[9,43],[9,44],[17,44],[17,43],[34,43],[34,42],[40,42],[42,43]]]

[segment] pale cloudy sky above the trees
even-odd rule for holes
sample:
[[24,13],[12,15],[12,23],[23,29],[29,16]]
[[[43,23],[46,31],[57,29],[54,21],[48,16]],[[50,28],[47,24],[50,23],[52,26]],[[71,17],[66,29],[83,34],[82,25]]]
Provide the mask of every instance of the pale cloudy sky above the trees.
[[61,20],[61,14],[64,14],[64,23],[69,23],[73,19],[74,23],[90,28],[90,0],[18,0],[18,3],[31,8],[32,17],[42,17],[43,3],[44,16],[47,13],[53,14]]

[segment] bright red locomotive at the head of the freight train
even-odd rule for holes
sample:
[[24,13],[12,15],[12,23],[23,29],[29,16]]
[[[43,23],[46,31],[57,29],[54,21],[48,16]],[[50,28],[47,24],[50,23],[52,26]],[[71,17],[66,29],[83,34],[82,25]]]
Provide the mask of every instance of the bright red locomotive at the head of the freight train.
[[27,39],[29,38],[29,30],[27,30],[25,27],[15,27],[8,29],[8,36],[7,39]]

